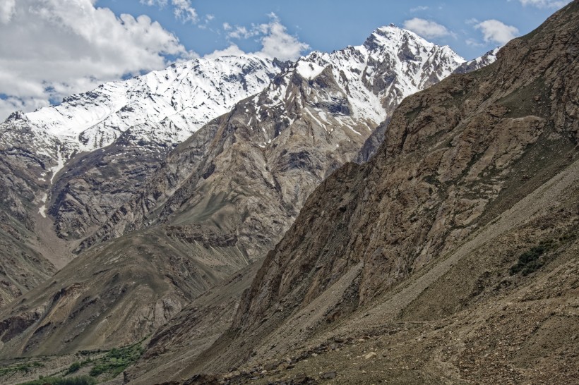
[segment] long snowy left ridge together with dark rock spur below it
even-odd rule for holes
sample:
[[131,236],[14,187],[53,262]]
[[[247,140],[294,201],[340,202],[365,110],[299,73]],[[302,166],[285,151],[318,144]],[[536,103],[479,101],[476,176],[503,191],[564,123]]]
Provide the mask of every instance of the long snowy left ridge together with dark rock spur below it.
[[4,146],[26,130],[25,148],[47,158],[42,215],[54,217],[60,238],[78,240],[102,226],[170,149],[261,91],[283,65],[225,56],[105,83],[58,106],[13,114],[0,127]]

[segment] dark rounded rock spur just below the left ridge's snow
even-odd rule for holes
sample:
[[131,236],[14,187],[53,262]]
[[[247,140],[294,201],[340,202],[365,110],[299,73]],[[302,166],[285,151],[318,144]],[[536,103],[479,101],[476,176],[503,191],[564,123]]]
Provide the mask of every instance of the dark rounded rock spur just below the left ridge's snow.
[[74,241],[97,231],[163,164],[174,146],[135,133],[144,126],[129,128],[112,145],[79,154],[64,166],[48,212],[59,237]]

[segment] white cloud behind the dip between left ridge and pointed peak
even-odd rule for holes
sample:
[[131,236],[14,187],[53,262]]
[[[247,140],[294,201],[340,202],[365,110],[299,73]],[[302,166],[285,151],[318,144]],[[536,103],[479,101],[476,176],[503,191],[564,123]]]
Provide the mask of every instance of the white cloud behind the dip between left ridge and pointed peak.
[[[275,13],[270,13],[270,22],[263,24],[252,24],[251,27],[242,25],[230,25],[223,23],[223,30],[227,32],[228,39],[249,39],[251,37],[258,37],[261,42],[261,50],[253,52],[253,54],[262,56],[268,59],[277,58],[280,60],[295,60],[302,55],[302,52],[309,49],[309,45],[300,42],[297,37],[287,33],[287,28],[282,25],[280,18]],[[237,44],[232,44],[225,52],[239,49]],[[229,51],[228,51],[229,50]],[[221,51],[215,51],[212,56],[215,56]]]

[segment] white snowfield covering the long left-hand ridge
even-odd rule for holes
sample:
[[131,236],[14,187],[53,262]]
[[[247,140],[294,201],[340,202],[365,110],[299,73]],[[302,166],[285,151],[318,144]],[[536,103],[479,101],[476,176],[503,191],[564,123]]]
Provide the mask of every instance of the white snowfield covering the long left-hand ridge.
[[81,151],[109,145],[126,129],[144,123],[157,126],[157,138],[178,143],[262,90],[279,71],[273,61],[257,56],[195,59],[107,82],[26,116],[47,135],[77,142]]

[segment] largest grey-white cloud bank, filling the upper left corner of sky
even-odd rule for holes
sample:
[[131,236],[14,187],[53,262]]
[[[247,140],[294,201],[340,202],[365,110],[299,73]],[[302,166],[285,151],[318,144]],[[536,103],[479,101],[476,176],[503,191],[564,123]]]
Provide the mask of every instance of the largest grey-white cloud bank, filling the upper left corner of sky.
[[[0,11],[0,119],[124,75],[196,56],[148,16],[115,16],[96,0],[18,0]],[[6,17],[9,15],[9,17]],[[6,21],[7,20],[7,21]]]

